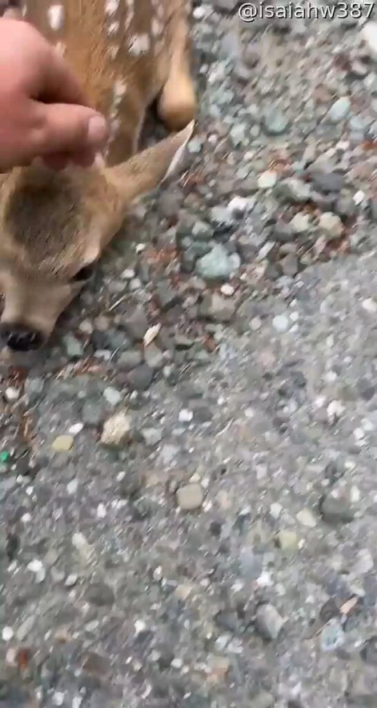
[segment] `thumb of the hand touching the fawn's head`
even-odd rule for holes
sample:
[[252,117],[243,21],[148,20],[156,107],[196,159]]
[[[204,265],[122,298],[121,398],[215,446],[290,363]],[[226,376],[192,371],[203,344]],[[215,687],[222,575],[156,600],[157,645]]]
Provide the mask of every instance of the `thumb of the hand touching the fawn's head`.
[[83,105],[40,103],[39,127],[33,137],[38,155],[98,151],[108,139],[108,124],[100,113]]

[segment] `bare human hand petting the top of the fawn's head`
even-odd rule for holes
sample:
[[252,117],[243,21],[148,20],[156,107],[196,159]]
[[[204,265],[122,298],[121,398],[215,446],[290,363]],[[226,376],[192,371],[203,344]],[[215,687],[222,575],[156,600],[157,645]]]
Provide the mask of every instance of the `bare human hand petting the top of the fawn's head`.
[[0,18],[0,172],[36,157],[90,166],[107,137],[63,57],[28,23]]

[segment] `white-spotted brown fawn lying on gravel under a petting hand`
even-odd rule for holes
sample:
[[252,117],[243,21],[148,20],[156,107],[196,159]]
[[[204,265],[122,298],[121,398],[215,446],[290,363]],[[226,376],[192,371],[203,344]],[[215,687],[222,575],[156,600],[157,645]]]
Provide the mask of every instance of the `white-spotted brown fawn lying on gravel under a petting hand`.
[[[4,1],[5,15],[22,16],[64,53],[111,125],[104,166],[54,172],[36,161],[0,174],[0,338],[19,352],[48,341],[127,207],[175,173],[196,98],[187,0],[26,0],[21,10]],[[138,152],[155,101],[173,134]]]

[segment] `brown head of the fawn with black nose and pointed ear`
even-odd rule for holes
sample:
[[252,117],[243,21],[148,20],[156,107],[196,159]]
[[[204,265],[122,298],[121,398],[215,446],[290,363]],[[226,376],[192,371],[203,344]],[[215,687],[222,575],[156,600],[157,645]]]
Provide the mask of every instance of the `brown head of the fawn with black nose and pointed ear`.
[[40,348],[91,275],[134,200],[175,173],[194,122],[111,168],[41,164],[0,175],[3,346]]

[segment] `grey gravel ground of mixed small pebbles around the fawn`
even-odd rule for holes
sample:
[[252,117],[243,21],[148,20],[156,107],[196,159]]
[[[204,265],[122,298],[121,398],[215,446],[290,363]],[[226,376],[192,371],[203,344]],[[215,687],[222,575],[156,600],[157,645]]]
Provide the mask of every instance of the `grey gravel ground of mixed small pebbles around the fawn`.
[[1,708],[377,706],[377,28],[194,15],[187,171],[1,370]]

